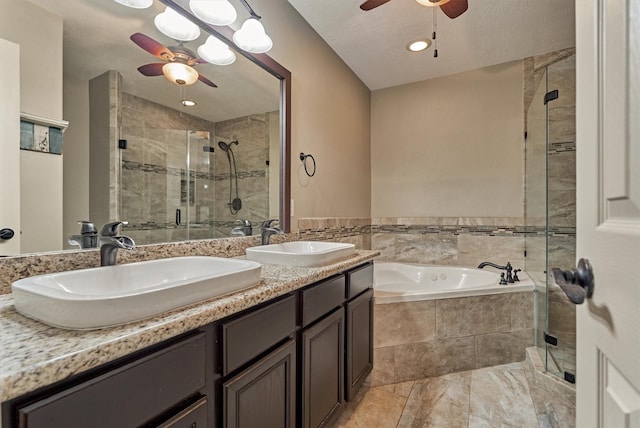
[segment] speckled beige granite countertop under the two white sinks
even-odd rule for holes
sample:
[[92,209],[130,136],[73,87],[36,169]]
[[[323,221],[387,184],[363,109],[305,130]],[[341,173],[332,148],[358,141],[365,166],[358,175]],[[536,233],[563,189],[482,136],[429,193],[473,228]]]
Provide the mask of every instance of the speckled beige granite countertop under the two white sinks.
[[0,402],[193,330],[372,260],[376,251],[317,268],[263,265],[254,287],[143,321],[100,330],[50,327],[18,314],[0,295]]

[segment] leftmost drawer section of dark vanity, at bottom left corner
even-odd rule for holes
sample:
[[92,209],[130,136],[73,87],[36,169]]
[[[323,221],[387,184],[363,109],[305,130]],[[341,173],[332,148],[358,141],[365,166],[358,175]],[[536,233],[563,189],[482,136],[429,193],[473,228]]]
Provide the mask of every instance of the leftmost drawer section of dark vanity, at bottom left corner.
[[213,420],[205,395],[206,350],[205,332],[155,346],[94,377],[26,398],[3,426],[206,426]]

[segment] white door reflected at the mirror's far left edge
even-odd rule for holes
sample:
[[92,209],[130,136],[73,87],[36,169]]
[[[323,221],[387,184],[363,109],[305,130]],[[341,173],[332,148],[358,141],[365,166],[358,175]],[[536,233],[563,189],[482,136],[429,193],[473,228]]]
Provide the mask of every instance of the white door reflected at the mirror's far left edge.
[[[0,256],[20,253],[20,47],[0,39]],[[7,235],[5,233],[0,236]]]

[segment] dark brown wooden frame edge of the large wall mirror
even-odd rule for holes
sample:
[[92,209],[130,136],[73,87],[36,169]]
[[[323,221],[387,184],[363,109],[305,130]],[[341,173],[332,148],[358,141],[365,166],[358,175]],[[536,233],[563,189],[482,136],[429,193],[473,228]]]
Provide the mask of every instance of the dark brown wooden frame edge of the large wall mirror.
[[196,17],[188,7],[187,0],[160,0],[176,12],[186,16],[200,28],[223,40],[234,50],[280,80],[280,184],[279,208],[280,229],[291,232],[291,72],[267,54],[253,54],[240,49],[233,42],[233,28],[207,24]]

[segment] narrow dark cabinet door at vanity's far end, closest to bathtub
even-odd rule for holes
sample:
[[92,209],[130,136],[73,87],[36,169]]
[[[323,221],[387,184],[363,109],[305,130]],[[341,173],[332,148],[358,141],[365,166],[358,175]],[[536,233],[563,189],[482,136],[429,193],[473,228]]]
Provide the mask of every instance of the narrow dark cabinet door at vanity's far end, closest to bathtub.
[[351,400],[373,368],[373,290],[347,302],[347,390]]

